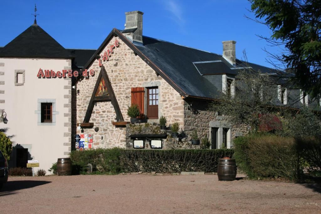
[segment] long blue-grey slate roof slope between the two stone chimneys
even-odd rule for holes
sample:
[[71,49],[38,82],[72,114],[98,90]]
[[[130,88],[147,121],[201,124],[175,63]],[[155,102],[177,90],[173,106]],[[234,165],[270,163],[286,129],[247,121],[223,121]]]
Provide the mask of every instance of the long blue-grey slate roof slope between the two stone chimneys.
[[237,75],[239,68],[248,66],[263,73],[275,73],[273,69],[241,60],[237,60],[235,68],[219,54],[146,36],[143,36],[143,45],[135,46],[187,95],[194,97],[219,98],[220,90],[206,75]]

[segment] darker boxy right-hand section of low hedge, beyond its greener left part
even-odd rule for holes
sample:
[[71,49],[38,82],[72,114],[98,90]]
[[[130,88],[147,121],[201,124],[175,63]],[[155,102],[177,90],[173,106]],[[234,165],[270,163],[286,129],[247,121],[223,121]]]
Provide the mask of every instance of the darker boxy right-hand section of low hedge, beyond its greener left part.
[[122,150],[123,172],[217,172],[218,158],[232,157],[234,150]]

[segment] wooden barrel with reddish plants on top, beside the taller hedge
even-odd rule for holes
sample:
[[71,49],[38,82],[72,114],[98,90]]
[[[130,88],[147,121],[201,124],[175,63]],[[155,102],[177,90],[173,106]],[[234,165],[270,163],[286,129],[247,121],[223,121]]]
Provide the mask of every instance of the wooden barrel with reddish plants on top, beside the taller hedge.
[[234,181],[236,177],[235,159],[219,158],[217,176],[219,181]]

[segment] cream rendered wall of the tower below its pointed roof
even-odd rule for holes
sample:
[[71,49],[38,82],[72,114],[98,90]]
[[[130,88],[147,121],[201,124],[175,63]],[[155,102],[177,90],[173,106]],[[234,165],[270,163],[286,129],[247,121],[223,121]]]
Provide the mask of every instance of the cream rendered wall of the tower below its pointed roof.
[[[21,144],[28,148],[31,157],[39,160],[40,167],[48,170],[57,158],[68,157],[70,150],[69,111],[71,112],[69,94],[71,81],[65,79],[39,79],[39,68],[61,71],[71,66],[70,59],[28,59],[28,58],[0,58],[0,109],[7,113],[8,124],[0,123],[0,128],[7,128],[5,134],[12,136],[13,146]],[[25,82],[16,86],[15,70],[25,71]],[[4,73],[3,73],[4,72]],[[4,75],[3,75],[4,74]],[[3,82],[2,82],[3,83]],[[67,95],[67,96],[65,96]],[[56,99],[56,124],[39,125],[38,99]],[[3,101],[4,100],[4,101]],[[4,102],[4,103],[3,103]],[[70,128],[71,129],[71,128]],[[15,156],[15,154],[13,154]],[[15,165],[15,158],[11,164]],[[38,168],[35,168],[37,170]]]

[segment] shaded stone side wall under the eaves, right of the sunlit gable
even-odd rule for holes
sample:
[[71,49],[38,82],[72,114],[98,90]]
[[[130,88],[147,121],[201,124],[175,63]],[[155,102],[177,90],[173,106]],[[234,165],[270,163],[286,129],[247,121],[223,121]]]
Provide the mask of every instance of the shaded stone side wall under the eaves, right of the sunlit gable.
[[[192,107],[190,107],[190,103],[192,103]],[[219,116],[217,112],[208,110],[209,104],[209,101],[201,100],[187,100],[184,102],[184,130],[188,136],[188,140],[191,139],[190,135],[194,129],[197,130],[200,139],[206,136],[210,138],[210,123],[220,121],[222,124],[227,124],[227,126],[230,125],[227,117]],[[235,136],[248,133],[248,127],[246,125],[231,125],[230,127],[232,139],[234,139]]]

